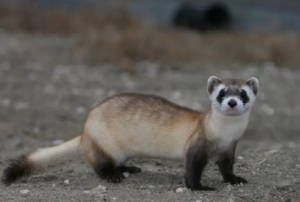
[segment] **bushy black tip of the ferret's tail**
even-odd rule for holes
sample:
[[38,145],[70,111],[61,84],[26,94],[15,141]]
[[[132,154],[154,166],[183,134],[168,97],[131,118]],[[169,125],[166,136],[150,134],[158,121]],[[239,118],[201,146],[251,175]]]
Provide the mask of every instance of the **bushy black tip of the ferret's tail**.
[[22,155],[14,159],[4,169],[2,175],[2,182],[6,186],[11,185],[21,177],[29,176],[33,171],[33,164],[28,160],[26,155]]

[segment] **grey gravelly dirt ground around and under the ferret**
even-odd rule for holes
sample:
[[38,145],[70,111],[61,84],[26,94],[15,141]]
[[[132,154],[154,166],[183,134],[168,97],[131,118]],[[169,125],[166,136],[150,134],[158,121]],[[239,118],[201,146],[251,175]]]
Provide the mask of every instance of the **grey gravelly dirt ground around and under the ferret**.
[[135,159],[142,168],[121,184],[100,180],[81,155],[18,181],[0,185],[0,201],[299,201],[300,72],[271,63],[256,66],[160,68],[141,62],[129,74],[110,64],[72,62],[72,39],[0,32],[0,171],[10,158],[66,141],[81,131],[88,111],[108,95],[144,92],[204,110],[206,81],[258,77],[260,94],[237,151],[235,170],[244,186],[222,182],[216,166],[203,176],[214,192],[184,188],[181,162]]

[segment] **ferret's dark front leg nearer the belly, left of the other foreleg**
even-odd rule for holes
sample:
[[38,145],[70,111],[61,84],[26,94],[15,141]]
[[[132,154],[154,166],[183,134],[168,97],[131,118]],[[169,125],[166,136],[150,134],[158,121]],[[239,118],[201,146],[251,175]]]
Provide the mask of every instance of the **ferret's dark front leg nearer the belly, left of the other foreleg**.
[[201,176],[208,162],[207,149],[204,140],[199,140],[187,151],[185,159],[185,183],[187,188],[202,191],[213,191],[215,188],[203,186]]

